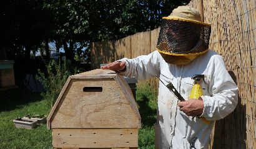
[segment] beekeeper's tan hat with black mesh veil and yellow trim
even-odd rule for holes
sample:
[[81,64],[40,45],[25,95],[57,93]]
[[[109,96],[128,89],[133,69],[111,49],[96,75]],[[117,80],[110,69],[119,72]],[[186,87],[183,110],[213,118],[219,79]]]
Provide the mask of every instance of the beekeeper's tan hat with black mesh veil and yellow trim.
[[191,61],[207,52],[209,38],[210,24],[201,21],[199,11],[189,6],[179,6],[170,16],[162,18],[157,50],[164,59],[168,56],[185,56]]

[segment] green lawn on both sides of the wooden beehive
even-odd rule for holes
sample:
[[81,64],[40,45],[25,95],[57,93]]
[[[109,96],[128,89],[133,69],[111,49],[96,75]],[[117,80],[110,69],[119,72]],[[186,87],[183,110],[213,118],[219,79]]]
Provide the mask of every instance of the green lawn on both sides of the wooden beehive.
[[[154,127],[156,117],[155,91],[148,84],[137,88],[137,103],[142,117],[139,130],[139,148],[154,148]],[[33,130],[16,129],[12,122],[27,114],[48,115],[51,101],[39,94],[21,89],[0,91],[0,148],[52,148],[51,130],[41,125]]]

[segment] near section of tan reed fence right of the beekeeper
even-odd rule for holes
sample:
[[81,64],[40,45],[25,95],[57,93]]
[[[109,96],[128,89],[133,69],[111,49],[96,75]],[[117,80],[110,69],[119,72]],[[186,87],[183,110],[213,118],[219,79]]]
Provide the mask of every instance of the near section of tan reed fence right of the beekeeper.
[[215,123],[212,148],[256,148],[256,1],[204,1],[204,21],[212,24],[210,48],[224,57],[239,86],[237,108]]

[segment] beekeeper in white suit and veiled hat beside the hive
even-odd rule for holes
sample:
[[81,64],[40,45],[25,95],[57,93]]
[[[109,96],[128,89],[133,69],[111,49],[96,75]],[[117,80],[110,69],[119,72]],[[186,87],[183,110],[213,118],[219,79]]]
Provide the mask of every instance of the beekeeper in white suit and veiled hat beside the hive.
[[[179,102],[159,83],[155,148],[208,148],[214,120],[237,106],[237,86],[222,56],[209,50],[209,38],[210,24],[201,21],[199,11],[180,6],[163,17],[155,52],[102,67],[137,79],[157,75],[165,84],[174,84],[186,100]],[[204,96],[199,99],[189,99],[193,75],[205,75],[200,83]],[[193,116],[205,117],[210,124]]]

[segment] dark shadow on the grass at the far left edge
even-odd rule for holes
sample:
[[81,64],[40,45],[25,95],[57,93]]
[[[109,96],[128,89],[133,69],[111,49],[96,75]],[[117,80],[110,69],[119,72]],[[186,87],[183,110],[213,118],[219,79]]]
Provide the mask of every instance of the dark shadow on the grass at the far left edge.
[[40,101],[40,93],[32,93],[28,89],[9,89],[0,91],[0,112],[11,111],[31,102]]

